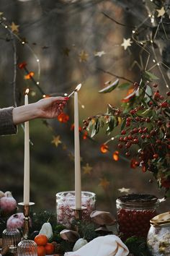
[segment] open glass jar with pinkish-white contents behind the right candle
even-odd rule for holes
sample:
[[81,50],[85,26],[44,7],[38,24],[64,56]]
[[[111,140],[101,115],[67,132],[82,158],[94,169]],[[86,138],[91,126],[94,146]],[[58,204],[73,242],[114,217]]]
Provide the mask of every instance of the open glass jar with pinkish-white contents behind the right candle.
[[[90,213],[95,210],[96,195],[93,192],[81,192],[81,205],[86,207],[82,212],[82,219],[89,219]],[[74,217],[75,192],[66,191],[56,194],[57,221],[67,228],[71,226]]]

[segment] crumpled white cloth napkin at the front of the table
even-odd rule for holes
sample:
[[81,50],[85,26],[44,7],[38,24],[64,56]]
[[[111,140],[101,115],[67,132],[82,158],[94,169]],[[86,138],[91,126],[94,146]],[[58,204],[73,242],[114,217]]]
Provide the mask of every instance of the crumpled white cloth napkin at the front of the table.
[[123,244],[118,236],[99,236],[76,252],[66,252],[64,256],[126,256],[128,247]]

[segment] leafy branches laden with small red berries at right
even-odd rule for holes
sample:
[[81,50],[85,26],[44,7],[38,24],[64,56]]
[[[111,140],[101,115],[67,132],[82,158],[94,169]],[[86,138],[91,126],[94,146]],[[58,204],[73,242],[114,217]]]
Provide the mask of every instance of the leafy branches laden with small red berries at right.
[[133,156],[131,167],[152,171],[159,187],[170,189],[170,91],[161,95],[158,84],[153,84],[153,95],[148,95],[146,86],[151,85],[135,82],[133,93],[123,101],[123,109],[108,104],[107,114],[84,120],[83,129],[91,128],[95,135],[105,123],[107,134],[111,134],[121,123],[117,147],[125,150],[127,157]]

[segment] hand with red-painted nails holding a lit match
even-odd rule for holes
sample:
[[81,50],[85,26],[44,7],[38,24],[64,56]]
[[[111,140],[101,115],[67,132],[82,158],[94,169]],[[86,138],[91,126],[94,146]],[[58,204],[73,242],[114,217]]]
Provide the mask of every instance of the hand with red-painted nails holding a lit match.
[[43,98],[35,103],[37,116],[45,119],[52,119],[63,112],[68,97],[49,97]]

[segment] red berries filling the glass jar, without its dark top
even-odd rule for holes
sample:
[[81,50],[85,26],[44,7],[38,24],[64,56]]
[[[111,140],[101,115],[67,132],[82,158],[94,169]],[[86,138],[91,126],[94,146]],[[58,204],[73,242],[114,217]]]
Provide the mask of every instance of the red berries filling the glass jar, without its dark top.
[[121,239],[126,240],[131,236],[146,238],[150,220],[156,214],[156,210],[118,210],[117,223]]

